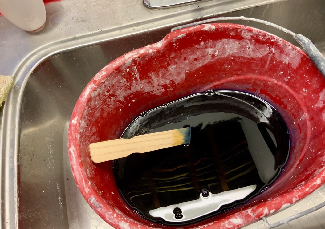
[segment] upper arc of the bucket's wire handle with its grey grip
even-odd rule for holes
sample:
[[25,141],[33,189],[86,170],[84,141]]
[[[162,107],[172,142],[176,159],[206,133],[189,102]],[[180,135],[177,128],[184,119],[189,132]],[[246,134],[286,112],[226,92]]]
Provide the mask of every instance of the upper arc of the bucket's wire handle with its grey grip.
[[265,24],[267,26],[271,26],[273,28],[276,28],[278,30],[281,30],[285,33],[288,33],[292,35],[293,39],[297,41],[301,47],[303,48],[304,52],[307,54],[307,56],[312,60],[312,62],[315,64],[315,66],[318,68],[319,72],[323,75],[325,78],[325,59],[323,55],[319,52],[319,50],[316,48],[316,46],[311,42],[308,38],[306,38],[304,35],[299,34],[299,33],[294,33],[291,30],[288,30],[286,28],[283,28],[277,24],[274,24],[272,22],[268,22],[265,20],[261,19],[256,19],[256,18],[246,18],[246,17],[220,17],[220,18],[209,18],[206,20],[202,21],[197,21],[193,23],[189,23],[186,25],[182,26],[177,26],[171,29],[172,31],[178,30],[178,29],[183,29],[189,26],[195,26],[195,25],[200,25],[200,24],[206,24],[206,23],[211,23],[214,21],[221,21],[221,20],[246,20],[246,21],[253,21],[261,24]]

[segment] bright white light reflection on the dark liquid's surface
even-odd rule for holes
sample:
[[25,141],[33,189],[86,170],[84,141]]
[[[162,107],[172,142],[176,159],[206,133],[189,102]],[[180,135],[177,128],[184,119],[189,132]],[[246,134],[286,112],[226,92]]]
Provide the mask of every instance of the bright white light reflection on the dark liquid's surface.
[[[149,214],[153,217],[162,218],[167,222],[186,222],[217,211],[225,204],[244,199],[255,189],[256,185],[250,185],[218,194],[209,193],[207,197],[203,197],[201,193],[199,199],[150,210]],[[181,210],[182,217],[179,219],[175,218],[175,208]]]

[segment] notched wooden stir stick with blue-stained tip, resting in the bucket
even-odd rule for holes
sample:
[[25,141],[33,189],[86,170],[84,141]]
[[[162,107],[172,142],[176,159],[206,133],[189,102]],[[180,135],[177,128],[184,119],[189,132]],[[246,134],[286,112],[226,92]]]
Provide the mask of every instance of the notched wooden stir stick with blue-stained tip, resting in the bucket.
[[114,139],[91,143],[90,157],[94,163],[127,157],[131,153],[145,153],[172,146],[186,145],[190,141],[190,127],[138,135],[131,139]]

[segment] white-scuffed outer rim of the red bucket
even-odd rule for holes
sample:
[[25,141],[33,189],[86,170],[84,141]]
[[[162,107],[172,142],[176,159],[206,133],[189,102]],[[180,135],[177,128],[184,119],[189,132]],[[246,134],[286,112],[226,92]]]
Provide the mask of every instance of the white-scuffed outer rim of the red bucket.
[[[244,26],[244,25],[239,25],[239,24],[233,24],[233,23],[208,23],[208,25],[209,24],[228,24],[228,25],[229,24],[232,24],[232,25],[237,25],[237,26],[240,26],[240,27],[248,27],[248,28],[253,28],[255,30],[259,30],[259,29],[256,29],[254,27]],[[177,39],[177,36],[182,36],[183,33],[186,33],[184,31],[187,31],[187,30],[189,30],[191,28],[194,28],[194,27],[204,28],[204,26],[206,26],[206,25],[207,24],[196,25],[196,26],[192,26],[192,27],[187,27],[185,29],[175,30],[175,31],[170,32],[169,34],[167,34],[160,42],[153,43],[153,44],[150,44],[148,46],[145,46],[145,47],[142,47],[142,48],[133,50],[131,52],[128,52],[128,53],[126,53],[126,54],[118,57],[114,61],[110,62],[108,65],[106,65],[103,69],[101,69],[98,72],[98,74],[96,74],[94,76],[94,78],[92,78],[90,80],[90,82],[87,84],[87,86],[85,87],[85,89],[81,93],[81,96],[78,98],[78,101],[76,103],[76,106],[77,105],[80,105],[80,107],[78,108],[78,111],[76,111],[74,109],[73,112],[72,112],[72,118],[71,118],[71,122],[70,122],[70,125],[69,125],[69,132],[73,132],[74,131],[75,133],[78,133],[78,131],[77,131],[78,128],[77,127],[80,126],[78,123],[80,123],[80,119],[81,119],[80,116],[82,114],[80,110],[82,110],[82,107],[85,107],[84,101],[86,101],[87,99],[89,99],[89,98],[87,98],[87,96],[90,96],[91,95],[91,92],[94,91],[93,89],[96,87],[96,85],[100,84],[100,82],[102,82],[105,79],[105,77],[103,77],[103,76],[106,74],[106,72],[110,72],[111,70],[114,70],[116,66],[121,66],[121,64],[125,64],[132,56],[140,56],[142,54],[149,53],[150,52],[149,51],[150,49],[153,50],[153,51],[159,51],[160,49],[163,49],[166,44],[168,44],[169,42],[172,42],[173,39]],[[268,33],[268,32],[263,31],[263,30],[259,30],[259,31]],[[275,35],[273,35],[273,36],[275,36]],[[291,44],[290,42],[287,42],[287,41],[285,41],[282,38],[280,38],[280,39],[282,41],[286,42],[286,43]],[[294,46],[294,45],[292,45],[292,46]],[[299,50],[299,51],[301,53],[305,54],[302,50]],[[94,86],[93,88],[91,88],[92,85]],[[93,210],[96,211],[97,214],[103,218],[103,215],[101,213],[102,209],[99,210],[95,206],[101,206],[101,208],[103,208],[103,206],[105,206],[105,205],[107,206],[107,204],[100,198],[100,196],[98,195],[98,193],[91,187],[91,184],[88,181],[87,175],[85,174],[85,171],[83,169],[83,164],[82,164],[81,160],[79,160],[79,161],[76,160],[75,157],[78,157],[76,155],[73,155],[72,156],[72,154],[74,154],[72,152],[72,148],[75,147],[74,146],[74,143],[71,143],[73,141],[74,140],[70,140],[70,138],[68,136],[69,161],[70,161],[70,164],[71,164],[71,167],[72,167],[72,172],[73,172],[74,179],[76,180],[76,183],[77,183],[78,188],[79,187],[82,187],[82,185],[84,185],[85,187],[87,187],[90,190],[90,194],[86,194],[84,190],[82,191],[79,188],[79,190],[83,194],[84,198],[87,200],[88,204],[91,205],[91,207],[93,208]],[[73,145],[72,147],[71,147],[71,144]],[[77,154],[80,154],[80,153],[78,152]],[[78,176],[82,177],[81,180],[79,180],[76,177],[76,173],[75,173],[75,170],[79,170],[79,169],[80,169],[80,171],[82,171],[81,174],[78,175]],[[83,181],[84,183],[81,184],[80,181]],[[321,182],[319,182],[319,181],[321,181]],[[285,195],[282,195],[281,196],[281,199],[282,200],[280,199],[280,197],[276,197],[276,198],[270,200],[268,202],[268,204],[272,204],[273,203],[274,205],[278,205],[277,206],[277,212],[279,212],[279,211],[284,210],[285,208],[291,206],[292,204],[294,204],[298,199],[300,200],[300,199],[306,197],[307,195],[309,195],[310,193],[312,193],[314,190],[316,190],[318,187],[320,187],[324,182],[325,182],[325,166],[324,166],[323,170],[319,172],[318,175],[315,175],[308,182],[305,182],[301,186],[294,188],[293,190],[291,190],[290,192],[286,193]],[[300,191],[302,189],[304,189],[304,191]],[[98,198],[96,198],[96,196]],[[296,197],[298,199],[295,199],[293,197]],[[284,201],[286,201],[286,202],[284,203]],[[281,206],[279,206],[279,203],[280,202],[282,203]],[[288,205],[288,206],[286,206],[286,205]],[[264,203],[260,203],[258,205],[254,205],[254,206],[250,207],[249,209],[247,209],[247,211],[248,212],[250,212],[250,211],[253,211],[254,212],[257,209],[261,209],[263,206],[265,206],[265,204]],[[110,210],[109,212],[107,212],[107,214],[109,214],[109,213],[119,214],[118,212],[116,212],[112,208],[107,208],[107,209]],[[268,216],[270,214],[272,214],[272,213],[270,213],[268,211],[267,213],[263,213],[261,217],[266,217],[266,216]],[[250,215],[250,217],[245,218],[245,223],[242,224],[241,226],[248,225],[249,223],[253,223],[254,221],[259,220],[261,218],[261,217],[257,217],[257,216],[252,216],[251,214],[249,214],[249,215]],[[201,225],[201,226],[208,226],[208,228],[209,228],[209,226],[214,226],[214,227],[217,226],[217,225],[220,226],[223,223],[227,223],[227,222],[231,221],[231,219],[236,218],[236,216],[237,217],[240,217],[241,215],[240,215],[240,213],[235,213],[235,214],[233,214],[231,216],[224,217],[224,218],[222,218],[222,219],[220,219],[218,221],[214,221],[212,223],[210,222],[210,223],[207,223],[207,224],[204,224],[204,225]],[[127,220],[128,223],[130,223],[130,224],[135,223],[133,220],[130,220],[130,219],[125,219],[125,220]],[[117,221],[117,219],[115,218],[114,221],[108,222],[108,223],[110,225],[112,225],[113,227],[116,227],[116,228],[120,228],[120,226],[119,226],[118,223],[122,223],[122,222],[125,223],[124,220],[123,221],[120,221],[120,222],[116,222],[116,221]],[[138,225],[138,224],[136,224],[136,225]],[[150,227],[147,227],[146,225],[141,225],[141,226],[143,228],[150,228]]]

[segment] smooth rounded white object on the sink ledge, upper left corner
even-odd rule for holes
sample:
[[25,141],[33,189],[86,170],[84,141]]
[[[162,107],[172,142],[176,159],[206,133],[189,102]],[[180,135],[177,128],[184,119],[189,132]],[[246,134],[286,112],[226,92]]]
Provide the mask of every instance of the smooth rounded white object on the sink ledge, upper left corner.
[[45,26],[43,0],[0,0],[2,15],[20,29],[37,32]]

